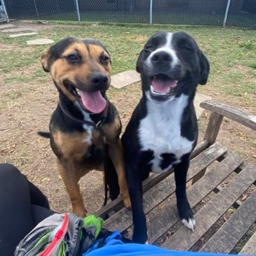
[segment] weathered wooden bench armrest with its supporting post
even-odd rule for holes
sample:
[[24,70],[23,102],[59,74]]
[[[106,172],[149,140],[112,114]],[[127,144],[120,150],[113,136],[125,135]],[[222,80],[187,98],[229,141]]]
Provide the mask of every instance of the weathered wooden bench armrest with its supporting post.
[[216,141],[219,133],[219,127],[221,126],[224,116],[236,121],[237,123],[241,123],[252,130],[256,130],[256,115],[246,114],[246,112],[238,110],[237,108],[209,99],[203,101],[200,104],[200,107],[212,112],[204,137],[204,140],[208,141],[209,144],[213,144]]

